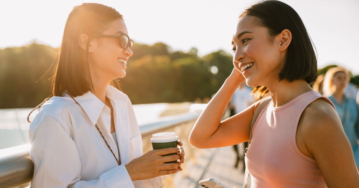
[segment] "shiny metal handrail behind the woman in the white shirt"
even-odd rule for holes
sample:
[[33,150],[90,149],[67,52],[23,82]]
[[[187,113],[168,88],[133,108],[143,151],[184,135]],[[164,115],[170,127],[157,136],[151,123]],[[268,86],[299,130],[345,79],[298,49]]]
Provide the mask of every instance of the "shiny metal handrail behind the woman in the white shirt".
[[[140,126],[142,136],[168,129],[176,125],[196,120],[200,112],[163,117],[157,122]],[[34,164],[29,150],[31,145],[24,144],[0,150],[0,187],[17,187],[32,180]]]

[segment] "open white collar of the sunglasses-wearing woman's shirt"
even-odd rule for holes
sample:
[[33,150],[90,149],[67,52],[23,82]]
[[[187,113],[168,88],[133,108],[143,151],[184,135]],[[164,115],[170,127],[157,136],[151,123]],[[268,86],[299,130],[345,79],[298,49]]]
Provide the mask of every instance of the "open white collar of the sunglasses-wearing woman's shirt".
[[[106,87],[106,96],[114,102],[116,100],[127,99],[127,95],[111,85]],[[95,125],[105,104],[90,91],[81,96],[74,97],[74,99],[85,111],[92,124]]]

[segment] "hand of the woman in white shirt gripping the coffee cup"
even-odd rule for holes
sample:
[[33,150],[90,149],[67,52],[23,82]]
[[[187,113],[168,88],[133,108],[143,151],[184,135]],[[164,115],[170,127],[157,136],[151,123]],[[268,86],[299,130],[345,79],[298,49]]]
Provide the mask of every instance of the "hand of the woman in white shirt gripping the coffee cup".
[[[182,141],[178,140],[178,145],[183,146]],[[166,155],[177,153],[176,155]],[[144,155],[132,160],[125,167],[131,180],[150,179],[160,175],[174,174],[182,170],[181,163],[185,162],[185,152],[183,148],[164,148],[150,150]],[[180,159],[180,162],[165,163]]]

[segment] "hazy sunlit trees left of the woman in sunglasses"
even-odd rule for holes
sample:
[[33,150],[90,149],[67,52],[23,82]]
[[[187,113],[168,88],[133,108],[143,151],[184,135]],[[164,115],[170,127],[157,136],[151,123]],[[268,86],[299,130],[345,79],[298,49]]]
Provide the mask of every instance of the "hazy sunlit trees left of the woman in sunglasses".
[[0,50],[1,109],[33,107],[50,95],[47,78],[53,72],[45,73],[56,61],[56,52],[57,49],[34,43]]

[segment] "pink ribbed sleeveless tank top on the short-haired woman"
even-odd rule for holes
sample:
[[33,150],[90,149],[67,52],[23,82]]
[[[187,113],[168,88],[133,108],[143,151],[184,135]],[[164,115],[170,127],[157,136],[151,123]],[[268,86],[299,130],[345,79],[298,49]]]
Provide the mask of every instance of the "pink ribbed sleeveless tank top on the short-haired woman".
[[334,107],[309,91],[283,106],[271,101],[258,116],[245,157],[252,187],[327,187],[316,160],[302,154],[295,140],[300,115],[317,98]]

